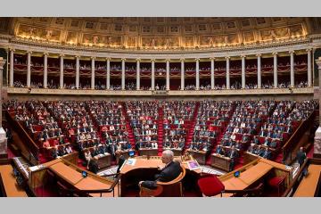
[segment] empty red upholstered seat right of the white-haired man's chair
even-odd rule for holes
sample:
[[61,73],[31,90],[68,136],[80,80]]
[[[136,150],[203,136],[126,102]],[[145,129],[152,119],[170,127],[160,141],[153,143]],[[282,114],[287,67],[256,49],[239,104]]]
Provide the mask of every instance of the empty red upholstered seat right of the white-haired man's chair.
[[201,192],[206,196],[214,196],[225,190],[225,186],[214,175],[201,177],[197,184],[199,185]]

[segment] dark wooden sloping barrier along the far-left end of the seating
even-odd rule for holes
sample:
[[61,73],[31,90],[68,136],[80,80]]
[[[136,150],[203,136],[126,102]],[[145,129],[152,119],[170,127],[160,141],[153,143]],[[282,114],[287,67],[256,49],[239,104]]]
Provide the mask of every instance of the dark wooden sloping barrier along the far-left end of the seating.
[[39,147],[37,146],[37,144],[29,136],[29,134],[26,132],[26,130],[21,126],[21,123],[12,118],[12,115],[9,113],[9,111],[6,111],[5,113],[6,113],[6,116],[7,116],[7,119],[9,120],[9,122],[14,127],[18,127],[16,129],[18,134],[21,134],[22,137],[26,138],[26,141],[24,141],[24,142],[27,143],[27,145],[29,147],[29,151],[33,154],[34,157],[37,157],[38,153],[39,153]]

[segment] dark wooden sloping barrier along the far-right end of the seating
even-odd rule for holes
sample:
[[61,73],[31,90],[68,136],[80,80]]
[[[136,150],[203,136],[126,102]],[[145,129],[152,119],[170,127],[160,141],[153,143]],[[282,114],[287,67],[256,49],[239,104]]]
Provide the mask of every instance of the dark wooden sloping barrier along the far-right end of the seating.
[[293,144],[295,144],[298,140],[298,136],[302,136],[302,134],[306,131],[304,129],[305,126],[309,125],[311,122],[310,120],[314,118],[315,111],[313,111],[310,115],[309,118],[304,120],[303,122],[300,123],[299,127],[295,130],[295,132],[292,134],[292,136],[289,138],[289,140],[282,146],[282,152],[283,152],[283,161],[286,161],[289,155],[290,156],[290,161],[292,162],[292,151],[291,149],[293,148]]

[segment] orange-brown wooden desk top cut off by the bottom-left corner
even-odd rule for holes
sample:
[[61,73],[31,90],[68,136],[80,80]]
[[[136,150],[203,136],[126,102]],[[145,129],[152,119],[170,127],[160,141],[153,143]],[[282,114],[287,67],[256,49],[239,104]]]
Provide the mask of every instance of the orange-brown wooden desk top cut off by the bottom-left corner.
[[4,185],[4,191],[7,197],[28,197],[27,193],[21,189],[16,182],[15,177],[12,176],[12,166],[0,166],[0,174]]

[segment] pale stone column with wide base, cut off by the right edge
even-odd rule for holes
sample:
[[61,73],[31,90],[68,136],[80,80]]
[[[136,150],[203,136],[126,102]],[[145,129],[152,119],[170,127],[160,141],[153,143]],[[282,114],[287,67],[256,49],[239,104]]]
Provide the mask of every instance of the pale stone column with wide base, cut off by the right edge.
[[[318,67],[318,80],[319,80],[319,91],[318,91],[318,102],[319,102],[319,114],[321,113],[321,57],[316,60],[317,67]],[[320,114],[321,115],[321,114]],[[316,131],[315,141],[314,141],[314,158],[321,158],[321,119],[319,119],[319,127]]]

